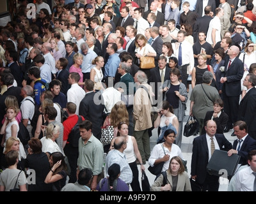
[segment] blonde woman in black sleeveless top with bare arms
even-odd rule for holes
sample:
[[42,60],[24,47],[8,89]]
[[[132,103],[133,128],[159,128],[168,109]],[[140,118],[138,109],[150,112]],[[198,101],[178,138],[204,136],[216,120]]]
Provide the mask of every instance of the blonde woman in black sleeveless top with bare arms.
[[195,87],[196,84],[203,83],[203,75],[205,71],[211,71],[214,80],[216,80],[212,66],[206,64],[206,62],[207,62],[207,55],[204,53],[199,54],[198,66],[195,66],[192,70],[192,80],[191,80],[192,89]]

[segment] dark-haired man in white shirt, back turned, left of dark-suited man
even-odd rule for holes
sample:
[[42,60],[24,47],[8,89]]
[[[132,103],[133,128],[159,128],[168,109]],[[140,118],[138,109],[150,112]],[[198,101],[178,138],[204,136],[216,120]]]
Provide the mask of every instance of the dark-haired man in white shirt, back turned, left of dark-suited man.
[[85,96],[84,89],[82,89],[78,82],[80,80],[80,75],[77,72],[72,72],[68,76],[68,84],[71,85],[70,89],[67,91],[67,101],[76,104],[76,114],[79,114],[79,105]]

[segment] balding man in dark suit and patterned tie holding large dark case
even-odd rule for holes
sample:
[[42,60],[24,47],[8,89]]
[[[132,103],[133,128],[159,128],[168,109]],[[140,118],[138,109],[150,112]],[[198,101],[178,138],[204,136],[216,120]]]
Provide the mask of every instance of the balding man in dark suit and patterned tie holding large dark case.
[[208,120],[205,124],[206,134],[193,140],[191,178],[202,186],[203,191],[218,191],[219,189],[219,177],[210,175],[206,168],[213,151],[232,149],[232,144],[223,134],[216,134],[216,129],[216,122]]

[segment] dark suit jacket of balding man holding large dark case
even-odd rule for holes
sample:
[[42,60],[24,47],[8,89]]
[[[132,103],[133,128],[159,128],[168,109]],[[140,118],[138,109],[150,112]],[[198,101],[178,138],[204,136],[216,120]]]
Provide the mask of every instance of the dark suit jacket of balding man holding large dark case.
[[[232,149],[232,144],[228,142],[223,134],[215,134],[220,150],[228,151]],[[224,147],[223,147],[224,146]],[[209,150],[206,135],[200,135],[193,140],[191,175],[196,175],[196,181],[204,184],[207,175],[207,164],[209,160]]]

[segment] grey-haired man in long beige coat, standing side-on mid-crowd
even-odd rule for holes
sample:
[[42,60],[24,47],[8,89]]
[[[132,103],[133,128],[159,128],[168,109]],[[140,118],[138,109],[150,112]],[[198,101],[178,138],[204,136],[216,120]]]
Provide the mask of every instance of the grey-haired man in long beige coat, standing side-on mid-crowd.
[[134,134],[138,143],[143,164],[146,164],[150,157],[150,142],[148,129],[152,127],[152,87],[147,84],[147,75],[144,71],[137,71],[134,75],[134,82],[138,85],[133,100]]

